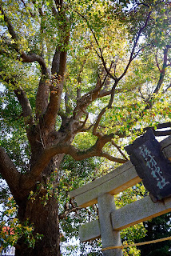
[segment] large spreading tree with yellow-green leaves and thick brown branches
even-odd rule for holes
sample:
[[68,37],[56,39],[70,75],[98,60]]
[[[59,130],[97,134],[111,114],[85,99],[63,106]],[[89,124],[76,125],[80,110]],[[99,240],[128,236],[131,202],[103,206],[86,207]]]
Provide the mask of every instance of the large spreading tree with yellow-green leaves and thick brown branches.
[[66,154],[121,164],[124,138],[170,127],[170,8],[157,0],[0,1],[0,173],[20,222],[43,234],[34,249],[20,238],[17,256],[60,255],[59,220],[77,210],[73,202],[58,208]]

